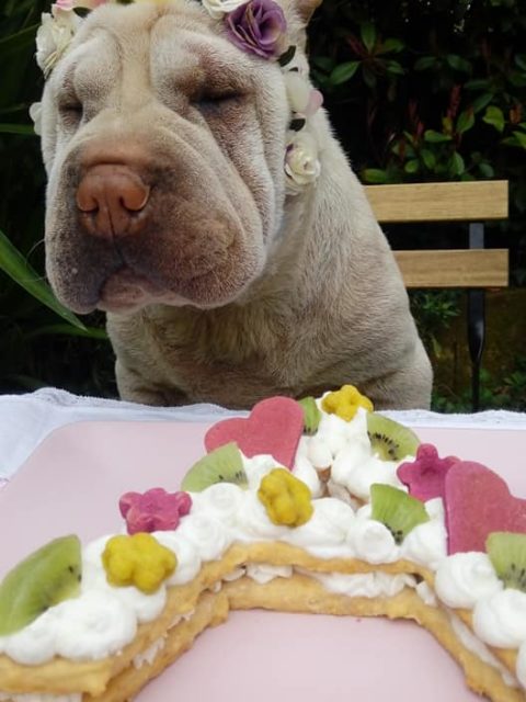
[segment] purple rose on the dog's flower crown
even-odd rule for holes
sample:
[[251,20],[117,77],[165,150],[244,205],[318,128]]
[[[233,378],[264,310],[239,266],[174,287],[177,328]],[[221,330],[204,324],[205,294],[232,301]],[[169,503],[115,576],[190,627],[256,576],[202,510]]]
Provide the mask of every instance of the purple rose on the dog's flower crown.
[[275,58],[282,53],[287,22],[274,0],[250,0],[227,15],[227,30],[243,52]]

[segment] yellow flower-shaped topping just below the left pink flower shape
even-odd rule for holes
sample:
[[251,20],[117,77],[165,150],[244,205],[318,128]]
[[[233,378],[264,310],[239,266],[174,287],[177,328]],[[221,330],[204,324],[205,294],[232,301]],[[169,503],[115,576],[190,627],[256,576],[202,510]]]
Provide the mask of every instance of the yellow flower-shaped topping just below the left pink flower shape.
[[111,585],[134,585],[141,592],[156,592],[178,565],[175,555],[151,534],[112,536],[102,554]]

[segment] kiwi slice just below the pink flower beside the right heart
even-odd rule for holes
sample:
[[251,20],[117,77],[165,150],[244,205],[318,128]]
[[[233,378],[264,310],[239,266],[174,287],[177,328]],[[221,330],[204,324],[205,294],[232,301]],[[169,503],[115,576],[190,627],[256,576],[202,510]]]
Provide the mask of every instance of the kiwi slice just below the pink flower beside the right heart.
[[384,483],[370,486],[370,505],[371,519],[385,524],[397,544],[401,544],[412,529],[430,521],[423,502]]

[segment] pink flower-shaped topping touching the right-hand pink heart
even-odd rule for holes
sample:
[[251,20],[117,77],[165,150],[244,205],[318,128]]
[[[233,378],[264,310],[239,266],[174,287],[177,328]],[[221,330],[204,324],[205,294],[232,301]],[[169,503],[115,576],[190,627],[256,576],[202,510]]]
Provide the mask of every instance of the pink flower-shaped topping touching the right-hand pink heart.
[[444,497],[446,475],[458,458],[438,457],[432,443],[422,443],[416,450],[416,458],[402,463],[397,471],[399,479],[409,487],[409,492],[425,502],[434,497]]

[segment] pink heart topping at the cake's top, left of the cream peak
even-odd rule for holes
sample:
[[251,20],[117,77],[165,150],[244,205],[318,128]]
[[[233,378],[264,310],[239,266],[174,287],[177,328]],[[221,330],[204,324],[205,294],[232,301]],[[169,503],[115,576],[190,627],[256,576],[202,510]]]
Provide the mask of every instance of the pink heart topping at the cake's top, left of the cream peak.
[[205,435],[207,452],[235,441],[248,458],[270,453],[281,465],[293,468],[304,431],[304,410],[289,397],[270,397],[254,405],[247,419],[225,419]]

